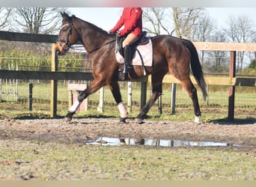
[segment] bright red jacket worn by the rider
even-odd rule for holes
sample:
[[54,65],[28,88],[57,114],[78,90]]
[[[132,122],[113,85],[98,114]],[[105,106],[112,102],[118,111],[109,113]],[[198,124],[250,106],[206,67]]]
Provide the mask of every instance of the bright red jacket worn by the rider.
[[137,37],[141,37],[142,32],[142,10],[141,7],[124,7],[123,13],[115,25],[110,31],[118,31],[124,25],[124,29],[119,31],[119,35],[122,37],[125,34],[135,34]]

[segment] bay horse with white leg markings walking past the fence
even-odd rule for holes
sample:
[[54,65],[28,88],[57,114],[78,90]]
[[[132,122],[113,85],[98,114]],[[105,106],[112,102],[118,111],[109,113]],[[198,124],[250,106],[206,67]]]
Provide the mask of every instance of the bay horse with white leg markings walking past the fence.
[[[118,64],[115,58],[115,34],[109,34],[102,28],[98,28],[96,25],[74,15],[69,16],[65,12],[61,13],[61,16],[62,25],[55,43],[55,52],[58,55],[65,55],[74,43],[80,41],[90,55],[94,76],[94,80],[88,88],[79,94],[77,100],[68,109],[64,119],[66,121],[72,120],[73,114],[76,113],[77,108],[86,97],[108,85],[120,111],[120,122],[126,123],[128,112],[122,101],[118,85],[118,70],[122,67],[122,64]],[[135,121],[143,123],[145,115],[162,94],[162,79],[169,72],[180,81],[180,84],[189,93],[194,107],[195,123],[200,123],[201,111],[197,90],[189,78],[190,67],[201,88],[204,99],[207,96],[207,91],[195,46],[190,40],[170,35],[157,35],[150,39],[153,45],[153,67],[134,66],[133,72],[129,73],[126,79],[129,81],[145,76],[144,68],[146,76],[151,75],[152,94],[135,117]]]

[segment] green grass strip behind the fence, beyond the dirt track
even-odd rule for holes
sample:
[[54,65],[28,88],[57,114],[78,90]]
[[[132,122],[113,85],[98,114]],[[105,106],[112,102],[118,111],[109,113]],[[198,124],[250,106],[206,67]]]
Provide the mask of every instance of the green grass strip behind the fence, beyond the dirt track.
[[[8,106],[6,106],[8,105]],[[7,108],[8,107],[8,108]],[[50,118],[49,105],[43,103],[34,103],[34,110],[28,111],[26,105],[19,102],[0,102],[0,119],[43,119]],[[44,109],[42,109],[44,108]],[[66,104],[58,104],[58,117],[64,117],[67,113],[68,106]],[[139,107],[132,108],[129,118],[135,118],[138,115]],[[201,108],[203,122],[228,122],[228,108]],[[255,123],[255,108],[236,108],[234,123]],[[119,117],[119,111],[116,106],[106,106],[103,113],[97,111],[97,105],[94,105],[89,111],[83,111],[75,114],[73,117]],[[176,113],[171,114],[171,108],[162,108],[162,114],[159,114],[157,106],[153,106],[147,114],[145,120],[171,120],[176,122],[194,120],[192,107],[176,108]]]

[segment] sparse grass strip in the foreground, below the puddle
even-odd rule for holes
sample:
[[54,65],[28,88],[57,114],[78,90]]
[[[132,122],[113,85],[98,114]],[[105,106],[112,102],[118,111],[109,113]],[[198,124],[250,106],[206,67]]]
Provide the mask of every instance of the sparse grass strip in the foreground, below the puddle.
[[1,140],[0,179],[255,180],[255,152]]

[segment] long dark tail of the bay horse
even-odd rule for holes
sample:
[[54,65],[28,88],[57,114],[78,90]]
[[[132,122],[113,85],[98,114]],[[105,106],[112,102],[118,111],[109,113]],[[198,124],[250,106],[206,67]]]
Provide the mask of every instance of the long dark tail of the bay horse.
[[207,98],[207,85],[204,81],[204,73],[198,58],[198,51],[195,49],[194,44],[190,40],[186,40],[186,46],[191,54],[191,69],[195,77],[196,82],[198,82],[201,91],[203,92],[204,100]]

